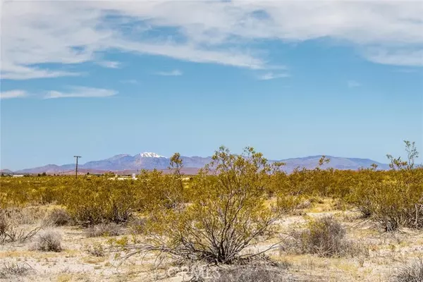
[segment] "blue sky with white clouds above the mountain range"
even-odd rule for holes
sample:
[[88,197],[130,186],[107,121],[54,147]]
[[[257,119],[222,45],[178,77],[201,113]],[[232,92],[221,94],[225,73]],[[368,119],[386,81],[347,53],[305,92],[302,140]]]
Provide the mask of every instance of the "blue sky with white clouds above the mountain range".
[[220,145],[423,152],[422,15],[417,1],[6,2],[1,168]]

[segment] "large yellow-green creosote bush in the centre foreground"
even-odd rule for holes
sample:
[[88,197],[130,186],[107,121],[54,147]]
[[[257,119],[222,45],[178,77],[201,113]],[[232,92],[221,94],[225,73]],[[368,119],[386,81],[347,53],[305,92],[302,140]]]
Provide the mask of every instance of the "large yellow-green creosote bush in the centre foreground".
[[[159,205],[147,219],[148,244],[133,246],[135,253],[160,251],[183,259],[231,264],[247,256],[240,254],[246,247],[272,238],[276,221],[298,204],[283,197],[273,204],[266,202],[266,185],[280,164],[268,164],[254,149],[235,155],[221,147],[212,160],[190,183],[190,204],[180,203],[173,209]],[[173,176],[178,179],[178,168]]]

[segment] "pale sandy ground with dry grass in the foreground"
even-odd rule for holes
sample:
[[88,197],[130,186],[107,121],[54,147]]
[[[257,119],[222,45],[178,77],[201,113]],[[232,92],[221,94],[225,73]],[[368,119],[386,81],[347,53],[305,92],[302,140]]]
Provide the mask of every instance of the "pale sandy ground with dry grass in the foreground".
[[[298,255],[276,248],[267,252],[269,258],[283,266],[289,281],[390,281],[391,277],[406,264],[423,255],[423,233],[401,229],[395,233],[378,231],[371,221],[360,218],[353,210],[335,209],[331,200],[322,200],[307,209],[295,211],[281,221],[281,237],[293,230],[300,230],[307,224],[307,218],[333,215],[347,229],[349,240],[354,241],[366,252],[353,257],[318,257]],[[122,259],[123,252],[109,252],[111,237],[88,238],[78,226],[48,226],[43,224],[43,214],[51,207],[28,207],[31,219],[22,228],[43,226],[39,234],[54,231],[61,235],[61,252],[34,250],[35,240],[25,243],[0,245],[0,267],[11,264],[24,266],[24,275],[11,274],[2,281],[190,281],[192,271],[203,271],[212,277],[216,266],[201,264],[176,265],[171,260],[157,261],[154,254],[135,255]],[[123,228],[123,235],[130,233]],[[248,252],[264,250],[277,240],[258,245]],[[93,246],[104,248],[103,256],[96,256],[88,250]],[[100,254],[102,255],[102,254]],[[226,266],[231,267],[231,266]],[[234,267],[234,266],[233,266]],[[208,271],[208,272],[207,272]]]

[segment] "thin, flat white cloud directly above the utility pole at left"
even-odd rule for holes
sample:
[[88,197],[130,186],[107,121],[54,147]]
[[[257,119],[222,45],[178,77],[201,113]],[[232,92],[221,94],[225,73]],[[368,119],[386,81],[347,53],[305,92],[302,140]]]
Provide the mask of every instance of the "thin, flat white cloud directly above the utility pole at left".
[[92,87],[72,87],[68,92],[49,91],[44,99],[56,98],[102,98],[116,95],[115,90],[92,88]]

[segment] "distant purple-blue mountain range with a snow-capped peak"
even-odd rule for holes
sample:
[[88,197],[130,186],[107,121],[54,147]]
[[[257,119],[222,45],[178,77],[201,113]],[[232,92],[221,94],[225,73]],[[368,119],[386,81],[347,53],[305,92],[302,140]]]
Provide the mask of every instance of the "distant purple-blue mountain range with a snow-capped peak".
[[[351,169],[357,170],[358,168],[369,168],[372,164],[377,164],[380,169],[388,169],[387,164],[381,164],[371,159],[357,159],[357,158],[343,158],[343,157],[331,157],[329,164],[325,164],[323,168],[337,168],[337,169]],[[296,167],[300,168],[315,168],[319,162],[319,156],[310,156],[295,159],[282,159],[282,160],[271,160],[283,161],[286,166],[283,166],[283,170],[290,173]],[[196,173],[199,168],[202,168],[205,164],[212,161],[212,157],[185,157],[181,156],[183,160],[183,172],[190,174]],[[118,154],[109,159],[103,159],[100,161],[88,161],[85,164],[78,165],[78,171],[80,173],[104,173],[107,171],[114,171],[118,174],[129,174],[136,173],[142,169],[159,169],[167,171],[170,159],[160,156],[152,152],[144,152],[131,156],[130,154]],[[1,170],[1,173],[47,173],[47,174],[72,174],[75,172],[75,164],[64,164],[58,166],[56,164],[48,164],[47,166],[39,166],[36,168],[26,168],[20,171],[9,171],[8,169]]]

